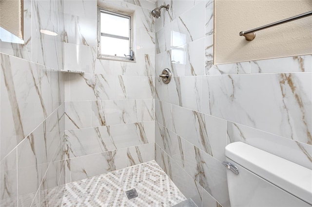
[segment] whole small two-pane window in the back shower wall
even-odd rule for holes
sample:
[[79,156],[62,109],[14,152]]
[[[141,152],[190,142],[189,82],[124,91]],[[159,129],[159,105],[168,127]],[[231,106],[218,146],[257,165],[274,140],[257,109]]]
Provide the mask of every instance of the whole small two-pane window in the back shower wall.
[[131,15],[98,9],[98,58],[134,60]]

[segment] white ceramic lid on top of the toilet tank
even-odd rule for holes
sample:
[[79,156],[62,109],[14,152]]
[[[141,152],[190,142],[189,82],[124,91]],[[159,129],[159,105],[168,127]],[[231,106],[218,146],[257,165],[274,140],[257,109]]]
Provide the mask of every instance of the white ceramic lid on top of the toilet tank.
[[227,145],[225,155],[247,170],[312,205],[312,170],[243,142]]

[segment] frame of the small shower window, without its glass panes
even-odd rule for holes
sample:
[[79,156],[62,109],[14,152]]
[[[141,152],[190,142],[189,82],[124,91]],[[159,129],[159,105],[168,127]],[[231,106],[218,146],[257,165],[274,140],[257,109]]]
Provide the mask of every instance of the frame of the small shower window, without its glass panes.
[[118,35],[110,35],[110,34],[104,34],[101,33],[101,13],[106,13],[110,15],[115,15],[117,17],[124,17],[129,19],[129,51],[128,54],[130,54],[130,51],[132,50],[134,52],[134,39],[133,39],[133,21],[134,21],[134,13],[128,13],[124,11],[120,11],[119,9],[112,9],[112,8],[106,8],[98,6],[98,59],[109,59],[109,60],[118,60],[118,61],[128,61],[128,62],[136,62],[136,57],[134,55],[134,59],[130,60],[129,56],[123,57],[123,56],[115,56],[115,55],[109,55],[109,54],[101,54],[101,36],[109,36],[119,39],[125,39],[123,36]]

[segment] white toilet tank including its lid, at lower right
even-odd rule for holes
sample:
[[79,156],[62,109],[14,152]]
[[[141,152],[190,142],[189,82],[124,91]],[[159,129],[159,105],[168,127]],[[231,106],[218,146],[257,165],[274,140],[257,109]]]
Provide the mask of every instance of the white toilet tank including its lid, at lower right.
[[243,142],[225,148],[231,207],[312,207],[312,171]]

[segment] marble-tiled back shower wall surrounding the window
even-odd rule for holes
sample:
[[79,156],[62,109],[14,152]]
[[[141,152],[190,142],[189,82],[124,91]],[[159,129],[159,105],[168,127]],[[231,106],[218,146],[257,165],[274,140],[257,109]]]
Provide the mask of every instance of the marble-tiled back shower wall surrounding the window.
[[154,159],[155,4],[103,0],[135,12],[136,62],[97,58],[97,0],[64,2],[66,182]]

